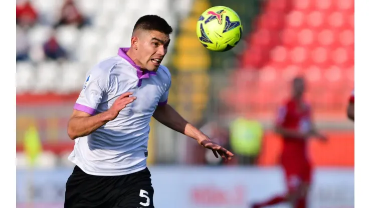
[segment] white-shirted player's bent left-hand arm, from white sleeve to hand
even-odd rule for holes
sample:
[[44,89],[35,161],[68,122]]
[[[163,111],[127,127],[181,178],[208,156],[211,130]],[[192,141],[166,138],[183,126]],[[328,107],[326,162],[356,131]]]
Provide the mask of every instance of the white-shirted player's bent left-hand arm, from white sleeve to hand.
[[89,135],[100,126],[115,119],[120,110],[136,98],[130,97],[132,92],[125,92],[114,101],[107,111],[95,113],[103,95],[107,94],[110,85],[114,84],[110,83],[109,76],[109,72],[107,73],[100,68],[91,70],[91,74],[87,76],[84,88],[75,103],[68,122],[67,133],[71,139]]

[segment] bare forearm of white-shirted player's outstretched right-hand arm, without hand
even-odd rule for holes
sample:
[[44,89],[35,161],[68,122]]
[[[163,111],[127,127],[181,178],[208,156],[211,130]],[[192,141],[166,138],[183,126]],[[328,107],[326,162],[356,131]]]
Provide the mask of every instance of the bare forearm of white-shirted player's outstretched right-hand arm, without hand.
[[153,113],[153,117],[167,127],[196,140],[207,137],[202,131],[189,123],[168,104],[157,106],[157,109]]

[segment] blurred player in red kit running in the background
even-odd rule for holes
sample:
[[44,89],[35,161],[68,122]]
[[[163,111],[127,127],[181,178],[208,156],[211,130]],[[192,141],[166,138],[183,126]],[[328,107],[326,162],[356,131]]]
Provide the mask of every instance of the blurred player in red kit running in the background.
[[307,192],[311,183],[312,167],[307,156],[307,140],[311,137],[326,140],[314,127],[311,109],[303,100],[305,81],[294,78],[292,96],[278,110],[276,132],[283,138],[281,165],[285,173],[287,193],[276,195],[253,208],[279,203],[290,203],[294,208],[305,208]]

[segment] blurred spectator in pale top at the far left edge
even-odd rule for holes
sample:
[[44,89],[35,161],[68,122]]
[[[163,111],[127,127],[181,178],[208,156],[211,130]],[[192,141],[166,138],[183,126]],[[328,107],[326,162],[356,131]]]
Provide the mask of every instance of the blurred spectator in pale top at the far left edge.
[[17,51],[17,61],[28,60],[30,44],[27,39],[26,30],[20,26],[16,29],[16,51]]

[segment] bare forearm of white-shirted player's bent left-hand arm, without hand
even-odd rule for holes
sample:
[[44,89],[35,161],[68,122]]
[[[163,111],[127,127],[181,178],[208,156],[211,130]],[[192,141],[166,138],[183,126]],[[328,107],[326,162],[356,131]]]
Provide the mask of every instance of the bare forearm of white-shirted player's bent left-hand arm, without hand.
[[86,136],[106,124],[112,115],[105,111],[90,117],[72,117],[68,122],[67,133],[71,139]]

